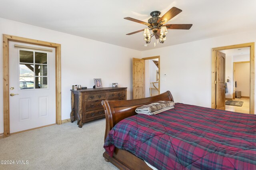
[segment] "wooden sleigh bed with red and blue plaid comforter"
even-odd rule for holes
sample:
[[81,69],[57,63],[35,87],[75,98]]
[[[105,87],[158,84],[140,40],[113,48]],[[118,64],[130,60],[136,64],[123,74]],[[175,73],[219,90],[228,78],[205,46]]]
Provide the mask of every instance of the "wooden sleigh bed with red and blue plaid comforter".
[[[135,109],[174,101],[170,91],[127,101],[102,101],[103,156],[119,169],[256,169],[256,115],[176,103],[158,115]],[[146,162],[145,162],[146,161]]]

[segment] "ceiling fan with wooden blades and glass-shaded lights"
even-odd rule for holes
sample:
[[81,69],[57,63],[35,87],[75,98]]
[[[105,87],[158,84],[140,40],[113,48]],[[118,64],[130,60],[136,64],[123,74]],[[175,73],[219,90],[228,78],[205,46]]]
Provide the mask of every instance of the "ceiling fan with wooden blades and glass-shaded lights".
[[[166,14],[164,14],[161,18],[159,17],[161,12],[160,11],[153,11],[150,13],[150,18],[148,22],[143,22],[140,20],[136,20],[134,18],[126,17],[124,19],[130,20],[133,22],[138,22],[140,24],[144,24],[148,26],[148,28],[145,28],[143,30],[138,30],[135,32],[131,32],[126,35],[132,35],[136,34],[138,32],[144,31],[144,40],[146,43],[150,43],[151,38],[155,36],[156,39],[159,39],[160,43],[164,43],[164,40],[166,40],[166,34],[168,33],[167,29],[179,29],[179,30],[189,30],[192,27],[192,24],[166,24],[170,19],[174,18],[174,16],[180,14],[182,12],[181,9],[172,7]],[[153,34],[150,34],[149,30],[152,30]]]

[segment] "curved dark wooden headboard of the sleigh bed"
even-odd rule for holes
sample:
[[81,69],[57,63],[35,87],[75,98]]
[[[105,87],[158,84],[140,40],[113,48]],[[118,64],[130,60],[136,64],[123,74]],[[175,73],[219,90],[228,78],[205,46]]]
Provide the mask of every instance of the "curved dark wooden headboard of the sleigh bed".
[[106,130],[105,138],[108,132],[121,120],[126,117],[136,115],[135,109],[142,105],[148,105],[156,101],[173,101],[173,97],[170,91],[166,91],[160,95],[147,97],[143,99],[134,100],[119,100],[119,101],[102,101],[102,106],[104,107],[106,115]]

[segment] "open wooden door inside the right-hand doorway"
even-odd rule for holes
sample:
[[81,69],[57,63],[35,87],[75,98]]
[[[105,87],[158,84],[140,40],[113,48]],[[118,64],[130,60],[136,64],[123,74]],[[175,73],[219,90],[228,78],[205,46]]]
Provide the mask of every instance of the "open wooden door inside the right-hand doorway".
[[216,51],[216,109],[225,110],[225,58],[226,54]]

